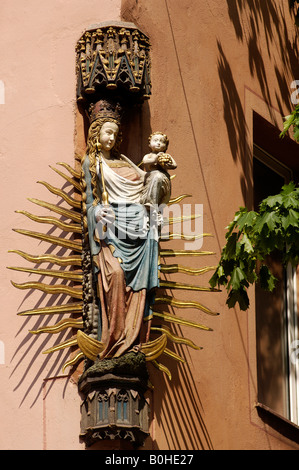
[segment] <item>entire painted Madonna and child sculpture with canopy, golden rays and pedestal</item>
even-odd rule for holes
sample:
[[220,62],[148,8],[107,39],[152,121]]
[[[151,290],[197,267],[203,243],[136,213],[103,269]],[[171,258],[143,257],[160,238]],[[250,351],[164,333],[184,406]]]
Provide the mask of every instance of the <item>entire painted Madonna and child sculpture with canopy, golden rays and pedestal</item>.
[[[12,250],[35,267],[10,269],[64,281],[13,284],[19,289],[68,296],[63,304],[33,308],[19,315],[65,315],[52,326],[32,333],[55,334],[66,329],[71,332],[67,340],[45,353],[70,348],[64,369],[69,367],[71,371],[84,362],[78,381],[82,439],[87,445],[102,439],[129,439],[139,446],[149,433],[149,403],[144,397],[149,381],[147,365],[151,363],[171,379],[163,355],[184,362],[171,344],[200,349],[187,338],[177,336],[171,325],[210,330],[206,325],[188,321],[182,314],[170,313],[168,307],[194,308],[216,315],[201,302],[178,300],[168,293],[176,289],[212,289],[165,280],[163,274],[198,276],[214,267],[191,269],[169,263],[175,257],[202,257],[209,252],[163,249],[164,241],[178,237],[194,240],[207,235],[163,233],[165,224],[173,227],[182,221],[182,217],[167,219],[163,209],[180,204],[189,196],[171,196],[171,172],[176,162],[167,153],[167,136],[160,131],[151,134],[150,152],[140,156],[140,165],[121,152],[121,142],[126,139],[122,132],[126,110],[136,104],[142,106],[151,94],[148,37],[131,23],[102,24],[83,34],[76,52],[77,100],[86,113],[88,127],[86,152],[76,168],[59,164],[67,173],[53,168],[74,187],[76,197],[41,182],[69,208],[31,199],[56,216],[19,211],[72,236],[17,229],[25,236],[63,247],[66,253],[32,255]],[[197,214],[186,217],[195,219]],[[43,263],[51,263],[51,267],[43,269],[39,266]]]

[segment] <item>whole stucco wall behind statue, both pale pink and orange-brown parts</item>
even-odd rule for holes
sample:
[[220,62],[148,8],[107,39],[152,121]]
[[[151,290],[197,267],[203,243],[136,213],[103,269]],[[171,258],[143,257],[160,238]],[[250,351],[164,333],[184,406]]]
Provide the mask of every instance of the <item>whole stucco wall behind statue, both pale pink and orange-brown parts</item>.
[[[66,336],[29,334],[54,319],[17,313],[46,305],[47,298],[10,283],[48,280],[6,268],[33,266],[8,250],[33,255],[52,250],[12,230],[49,230],[15,210],[48,214],[27,197],[60,201],[36,182],[61,187],[63,180],[49,165],[73,165],[74,151],[84,148],[82,120],[76,121],[77,40],[92,24],[120,19],[149,35],[153,96],[139,138],[146,150],[145,126],[168,134],[169,151],[178,163],[174,195],[188,192],[192,203],[204,204],[204,230],[213,237],[203,249],[215,256],[182,263],[202,267],[217,263],[225,226],[252,196],[253,112],[277,126],[290,112],[289,84],[299,79],[298,33],[288,0],[271,2],[269,10],[266,2],[254,2],[252,8],[252,2],[217,0],[0,3],[0,449],[83,449],[77,386],[68,370],[62,373],[68,350],[42,354]],[[66,192],[70,189],[65,186]],[[204,275],[198,284],[208,279]],[[180,280],[186,282],[184,276]],[[228,310],[225,294],[200,298],[219,317],[207,319],[195,310],[178,313],[202,320],[213,332],[202,335],[182,327],[204,349],[180,347],[187,364],[176,364],[171,382],[151,368],[153,420],[145,449],[298,449],[298,439],[263,422],[256,411],[253,291],[249,312]],[[199,300],[196,293],[188,299]],[[172,367],[171,360],[165,364]]]

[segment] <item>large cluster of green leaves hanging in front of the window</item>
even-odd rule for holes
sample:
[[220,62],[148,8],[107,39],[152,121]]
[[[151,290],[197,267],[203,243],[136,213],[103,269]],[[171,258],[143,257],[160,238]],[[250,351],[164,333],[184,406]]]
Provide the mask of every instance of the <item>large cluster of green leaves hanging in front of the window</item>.
[[210,285],[226,286],[228,306],[238,303],[246,310],[250,284],[259,282],[268,291],[275,287],[276,278],[266,265],[268,255],[279,250],[284,265],[298,264],[299,188],[294,183],[283,186],[279,194],[261,202],[258,212],[241,207],[227,227],[226,240]]

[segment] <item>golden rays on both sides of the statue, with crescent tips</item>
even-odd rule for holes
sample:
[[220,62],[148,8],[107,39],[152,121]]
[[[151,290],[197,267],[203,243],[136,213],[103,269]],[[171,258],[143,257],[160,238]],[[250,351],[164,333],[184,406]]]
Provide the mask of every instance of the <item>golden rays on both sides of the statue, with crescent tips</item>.
[[[28,211],[16,211],[19,214],[24,215],[27,219],[30,219],[34,222],[40,223],[42,225],[51,226],[52,229],[60,229],[68,236],[55,236],[50,234],[51,230],[48,233],[43,233],[39,231],[31,231],[26,229],[14,229],[15,232],[24,235],[26,237],[31,237],[42,242],[49,243],[52,247],[56,246],[60,249],[65,250],[63,255],[51,253],[43,254],[29,254],[21,250],[10,250],[10,252],[19,255],[24,260],[34,263],[35,267],[8,267],[8,269],[17,272],[23,272],[30,275],[39,275],[40,278],[52,279],[51,283],[40,282],[40,281],[28,281],[24,283],[17,283],[11,281],[12,284],[18,289],[33,289],[39,290],[47,295],[57,295],[62,294],[64,297],[68,297],[68,302],[58,305],[47,305],[45,307],[33,308],[30,310],[24,310],[19,312],[20,316],[29,316],[29,317],[43,317],[47,316],[48,318],[59,317],[59,320],[52,324],[41,326],[38,329],[30,330],[30,333],[34,335],[38,334],[49,334],[55,335],[64,331],[71,331],[71,337],[62,341],[59,344],[55,344],[49,349],[43,351],[44,354],[54,353],[67,348],[74,348],[76,351],[64,365],[63,371],[67,367],[76,366],[82,359],[91,359],[95,360],[98,357],[98,354],[103,350],[104,345],[97,341],[94,338],[91,338],[84,332],[84,322],[82,317],[82,308],[83,308],[83,273],[82,273],[82,239],[81,236],[81,186],[80,186],[80,173],[73,169],[70,165],[66,163],[58,163],[66,169],[71,176],[65,174],[64,172],[52,168],[60,177],[62,177],[67,183],[69,183],[75,192],[78,193],[78,197],[74,198],[67,194],[60,188],[57,188],[45,181],[38,181],[42,184],[51,194],[59,196],[64,203],[67,203],[69,208],[64,208],[61,205],[56,205],[48,203],[46,201],[29,198],[29,201],[33,204],[47,209],[53,212],[56,215],[59,215],[60,218],[56,216],[45,216],[45,215],[35,215]],[[181,204],[186,198],[191,197],[190,194],[183,194],[177,196],[169,201],[169,206],[175,204]],[[164,219],[164,223],[167,223],[168,226],[175,226],[178,223],[185,221],[195,221],[201,217],[201,214],[188,214],[179,217],[168,217]],[[197,346],[188,338],[183,336],[178,336],[176,332],[173,332],[171,328],[176,327],[191,327],[198,329],[200,331],[212,331],[212,328],[209,326],[199,323],[194,320],[188,320],[184,318],[183,315],[177,315],[173,313],[176,309],[185,311],[185,309],[193,309],[196,311],[203,312],[206,315],[216,316],[217,312],[212,311],[210,308],[199,302],[198,300],[193,300],[192,298],[186,298],[184,294],[184,299],[176,298],[176,295],[173,292],[183,292],[188,293],[192,292],[218,292],[216,289],[211,289],[210,287],[199,286],[194,283],[188,282],[177,282],[174,280],[166,279],[166,276],[173,274],[178,274],[180,276],[189,276],[193,279],[200,278],[205,273],[215,269],[215,266],[200,266],[200,267],[190,267],[180,263],[169,263],[169,259],[179,258],[180,260],[188,259],[189,257],[196,258],[200,260],[202,257],[215,254],[211,251],[203,251],[201,249],[172,249],[164,248],[164,242],[172,243],[173,240],[183,240],[183,241],[195,241],[203,239],[204,237],[209,237],[210,234],[206,233],[196,233],[193,235],[188,235],[185,233],[168,233],[167,236],[161,237],[161,246],[159,251],[160,257],[160,286],[157,290],[155,296],[155,303],[152,306],[152,327],[151,327],[151,338],[150,341],[141,345],[140,350],[145,354],[146,360],[152,363],[160,371],[165,373],[169,379],[171,379],[170,370],[160,362],[160,357],[162,355],[170,357],[171,359],[185,363],[185,359],[179,354],[174,352],[170,347],[169,343],[177,344],[182,346],[187,346],[193,349],[201,349],[200,346]],[[161,260],[163,262],[161,263]],[[39,265],[48,263],[50,267],[43,268]],[[53,267],[54,266],[54,267]],[[56,267],[55,267],[56,266]],[[57,269],[57,266],[60,269]],[[161,278],[161,275],[165,279]],[[167,291],[171,291],[171,295],[167,294]],[[188,294],[187,294],[188,297]],[[162,310],[160,310],[162,307]],[[168,311],[171,309],[172,311]],[[67,318],[62,318],[61,316],[68,315]]]

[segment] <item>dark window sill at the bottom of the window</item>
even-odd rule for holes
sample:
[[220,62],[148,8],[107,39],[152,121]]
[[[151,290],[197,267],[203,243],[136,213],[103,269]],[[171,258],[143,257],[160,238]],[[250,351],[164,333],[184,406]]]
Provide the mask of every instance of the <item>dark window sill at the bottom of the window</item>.
[[262,403],[256,403],[255,408],[265,424],[275,429],[287,439],[299,443],[299,426],[297,424],[284,418]]

